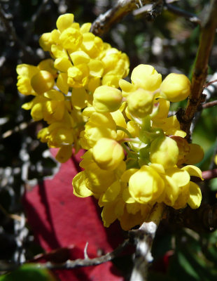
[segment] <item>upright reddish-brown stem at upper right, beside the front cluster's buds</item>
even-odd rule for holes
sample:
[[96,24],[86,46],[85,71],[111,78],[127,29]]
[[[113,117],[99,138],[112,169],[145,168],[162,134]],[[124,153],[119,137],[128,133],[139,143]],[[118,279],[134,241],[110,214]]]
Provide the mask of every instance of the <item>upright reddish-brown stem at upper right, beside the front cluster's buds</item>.
[[193,70],[193,80],[191,86],[190,97],[186,110],[177,112],[177,117],[181,124],[181,129],[186,131],[186,138],[190,139],[190,124],[193,120],[195,112],[202,101],[202,91],[207,78],[207,69],[209,55],[214,43],[214,37],[217,27],[217,0],[212,0],[209,7],[207,18],[202,22],[202,30],[200,35],[200,45],[197,50],[195,67]]

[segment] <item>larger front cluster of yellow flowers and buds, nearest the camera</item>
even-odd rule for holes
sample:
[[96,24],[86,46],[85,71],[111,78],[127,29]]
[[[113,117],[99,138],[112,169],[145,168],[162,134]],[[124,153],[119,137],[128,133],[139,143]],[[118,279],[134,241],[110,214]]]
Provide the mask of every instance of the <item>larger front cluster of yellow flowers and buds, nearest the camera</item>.
[[135,67],[131,80],[120,79],[121,91],[107,85],[94,91],[82,113],[83,171],[73,178],[76,196],[93,195],[103,207],[104,226],[118,218],[124,230],[145,221],[155,203],[195,209],[202,200],[190,181],[202,179],[193,166],[202,148],[188,144],[176,116],[167,117],[170,102],[189,96],[190,81],[173,73],[162,81],[151,65]]

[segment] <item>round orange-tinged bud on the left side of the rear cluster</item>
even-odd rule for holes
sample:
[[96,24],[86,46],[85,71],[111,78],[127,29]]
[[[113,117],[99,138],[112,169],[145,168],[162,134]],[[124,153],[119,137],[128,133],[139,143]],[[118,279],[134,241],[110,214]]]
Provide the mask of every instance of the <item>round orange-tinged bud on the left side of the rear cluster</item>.
[[45,93],[52,89],[55,81],[52,74],[48,71],[41,70],[31,78],[31,86],[36,93]]

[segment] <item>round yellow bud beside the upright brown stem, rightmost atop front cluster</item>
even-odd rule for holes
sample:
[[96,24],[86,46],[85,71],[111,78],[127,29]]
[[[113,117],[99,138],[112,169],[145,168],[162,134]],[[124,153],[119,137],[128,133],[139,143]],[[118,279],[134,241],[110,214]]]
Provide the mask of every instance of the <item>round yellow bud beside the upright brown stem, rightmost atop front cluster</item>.
[[171,73],[160,85],[160,96],[178,102],[185,100],[190,95],[190,80],[184,74]]

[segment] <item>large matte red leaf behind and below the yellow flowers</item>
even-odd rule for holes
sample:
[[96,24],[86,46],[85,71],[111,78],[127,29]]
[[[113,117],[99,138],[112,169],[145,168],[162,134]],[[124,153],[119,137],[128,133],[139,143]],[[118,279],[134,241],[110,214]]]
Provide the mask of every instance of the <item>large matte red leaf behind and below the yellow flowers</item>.
[[[27,191],[23,199],[28,223],[41,247],[46,252],[64,247],[55,251],[53,256],[50,254],[50,259],[58,261],[83,259],[87,242],[87,254],[93,258],[112,251],[123,241],[123,231],[117,222],[104,228],[94,198],[73,195],[71,181],[80,171],[80,155],[62,164],[52,180],[38,183],[33,190]],[[57,270],[56,273],[62,281],[124,280],[111,262],[88,268]]]

